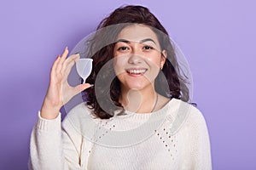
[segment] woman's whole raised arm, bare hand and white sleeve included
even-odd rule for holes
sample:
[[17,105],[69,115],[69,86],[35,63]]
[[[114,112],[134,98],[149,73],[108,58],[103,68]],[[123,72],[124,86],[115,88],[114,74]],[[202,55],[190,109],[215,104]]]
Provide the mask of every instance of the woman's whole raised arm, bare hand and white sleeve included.
[[68,58],[67,54],[68,49],[65,48],[63,54],[55,59],[50,71],[49,87],[38,114],[38,122],[32,130],[30,169],[79,168],[79,148],[76,148],[76,143],[81,140],[76,138],[75,133],[71,138],[72,130],[70,134],[67,133],[68,126],[61,129],[60,109],[74,95],[89,88],[90,84],[84,83],[76,87],[68,84],[67,77],[75,59],[79,59],[79,54]]

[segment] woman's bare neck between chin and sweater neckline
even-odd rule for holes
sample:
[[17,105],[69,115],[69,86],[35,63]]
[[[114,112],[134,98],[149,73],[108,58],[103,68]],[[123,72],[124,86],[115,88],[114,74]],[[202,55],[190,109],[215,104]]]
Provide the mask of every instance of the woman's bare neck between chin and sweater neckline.
[[127,111],[149,113],[157,105],[157,95],[152,86],[142,90],[121,88],[120,103]]

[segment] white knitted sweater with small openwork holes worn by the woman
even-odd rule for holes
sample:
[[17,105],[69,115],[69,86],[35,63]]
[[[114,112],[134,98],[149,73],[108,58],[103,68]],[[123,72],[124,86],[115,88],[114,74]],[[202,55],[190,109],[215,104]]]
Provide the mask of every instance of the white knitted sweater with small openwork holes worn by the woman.
[[61,115],[46,120],[38,114],[30,169],[212,169],[207,124],[192,105],[172,99],[160,111],[125,111],[106,120],[90,112],[77,105],[62,126]]

